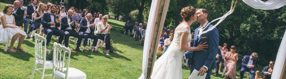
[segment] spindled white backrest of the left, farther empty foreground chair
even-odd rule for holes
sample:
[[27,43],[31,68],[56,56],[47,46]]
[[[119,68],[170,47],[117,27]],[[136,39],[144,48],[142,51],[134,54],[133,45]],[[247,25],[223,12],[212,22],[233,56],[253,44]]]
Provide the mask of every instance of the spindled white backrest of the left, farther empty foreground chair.
[[46,38],[40,36],[39,34],[35,34],[35,60],[43,60],[43,64],[46,61],[46,42]]

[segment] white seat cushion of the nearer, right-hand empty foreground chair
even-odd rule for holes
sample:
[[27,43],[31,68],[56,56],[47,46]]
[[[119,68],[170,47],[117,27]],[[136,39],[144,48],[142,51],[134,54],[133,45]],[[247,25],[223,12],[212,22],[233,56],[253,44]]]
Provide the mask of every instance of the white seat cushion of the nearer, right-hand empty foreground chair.
[[[66,70],[67,68],[63,68]],[[68,79],[86,79],[86,73],[83,73],[81,70],[78,70],[76,68],[69,68]],[[61,73],[59,71],[55,71],[55,76],[64,79],[65,78],[64,73]]]

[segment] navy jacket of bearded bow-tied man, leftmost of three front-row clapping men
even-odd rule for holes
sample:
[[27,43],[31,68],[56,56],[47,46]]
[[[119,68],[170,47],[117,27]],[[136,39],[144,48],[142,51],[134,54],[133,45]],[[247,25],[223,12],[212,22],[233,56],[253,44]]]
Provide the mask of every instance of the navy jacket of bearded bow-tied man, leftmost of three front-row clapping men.
[[[57,18],[59,18],[59,17],[56,14],[54,14],[54,22],[56,24],[55,26],[60,27],[60,22],[59,23],[56,22]],[[50,22],[51,22],[50,12],[43,13],[42,18],[41,18],[41,24],[43,25],[43,29],[42,29],[43,33],[48,29],[58,29],[58,28],[50,27],[51,26]]]

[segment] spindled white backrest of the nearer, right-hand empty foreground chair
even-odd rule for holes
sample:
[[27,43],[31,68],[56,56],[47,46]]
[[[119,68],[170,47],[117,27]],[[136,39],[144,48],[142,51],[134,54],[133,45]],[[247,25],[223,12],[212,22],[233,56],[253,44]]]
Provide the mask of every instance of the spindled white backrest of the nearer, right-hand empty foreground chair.
[[[66,53],[68,53],[68,58],[67,58],[67,69],[64,70],[64,62],[65,62],[65,56]],[[59,71],[61,73],[66,74],[65,79],[68,77],[68,71],[69,71],[69,58],[71,55],[71,50],[68,49],[67,47],[62,46],[61,44],[58,44],[54,42],[54,53],[53,53],[53,69],[55,71]]]

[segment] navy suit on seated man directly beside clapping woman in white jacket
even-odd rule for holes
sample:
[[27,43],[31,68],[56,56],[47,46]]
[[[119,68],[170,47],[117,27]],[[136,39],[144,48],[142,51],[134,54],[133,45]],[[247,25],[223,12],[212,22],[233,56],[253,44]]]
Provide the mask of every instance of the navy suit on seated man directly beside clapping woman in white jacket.
[[[92,24],[93,22],[90,21],[89,24]],[[81,22],[79,23],[79,30],[78,32],[83,35],[83,46],[86,46],[88,38],[93,39],[93,44],[92,46],[96,46],[97,41],[98,41],[98,36],[94,35],[94,31],[96,27],[93,28],[88,28],[89,25],[87,25],[87,19],[82,18]],[[86,33],[86,29],[90,29],[90,33]]]

